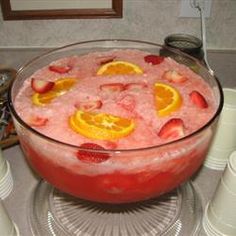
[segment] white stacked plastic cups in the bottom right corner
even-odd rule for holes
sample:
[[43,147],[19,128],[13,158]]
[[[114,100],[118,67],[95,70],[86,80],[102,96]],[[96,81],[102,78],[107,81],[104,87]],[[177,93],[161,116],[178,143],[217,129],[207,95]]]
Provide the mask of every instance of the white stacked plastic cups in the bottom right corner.
[[215,195],[207,204],[203,228],[208,236],[236,235],[236,151],[230,155]]

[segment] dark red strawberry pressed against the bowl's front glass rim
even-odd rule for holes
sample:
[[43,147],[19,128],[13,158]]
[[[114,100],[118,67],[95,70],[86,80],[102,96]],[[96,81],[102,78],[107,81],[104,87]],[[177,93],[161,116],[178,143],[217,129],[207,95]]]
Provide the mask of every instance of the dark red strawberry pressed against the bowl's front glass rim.
[[103,148],[98,144],[83,143],[80,145],[80,147],[87,149],[87,150],[79,150],[76,153],[76,156],[80,161],[87,163],[101,163],[110,158],[110,155],[108,153],[93,151],[93,150],[105,150],[105,148]]

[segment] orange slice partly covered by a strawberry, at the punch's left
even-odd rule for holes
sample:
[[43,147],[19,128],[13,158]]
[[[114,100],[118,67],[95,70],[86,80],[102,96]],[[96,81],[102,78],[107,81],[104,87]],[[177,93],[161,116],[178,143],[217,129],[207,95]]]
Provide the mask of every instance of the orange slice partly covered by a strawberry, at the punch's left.
[[32,102],[34,105],[43,106],[50,103],[54,98],[69,91],[78,80],[75,78],[62,78],[55,82],[53,88],[46,93],[34,93]]

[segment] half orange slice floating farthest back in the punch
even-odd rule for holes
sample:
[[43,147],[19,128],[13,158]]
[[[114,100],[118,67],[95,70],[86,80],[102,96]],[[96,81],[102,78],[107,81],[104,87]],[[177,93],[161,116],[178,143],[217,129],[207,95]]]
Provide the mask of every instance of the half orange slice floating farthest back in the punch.
[[143,70],[136,64],[127,61],[112,61],[102,65],[97,75],[132,75],[142,74]]

